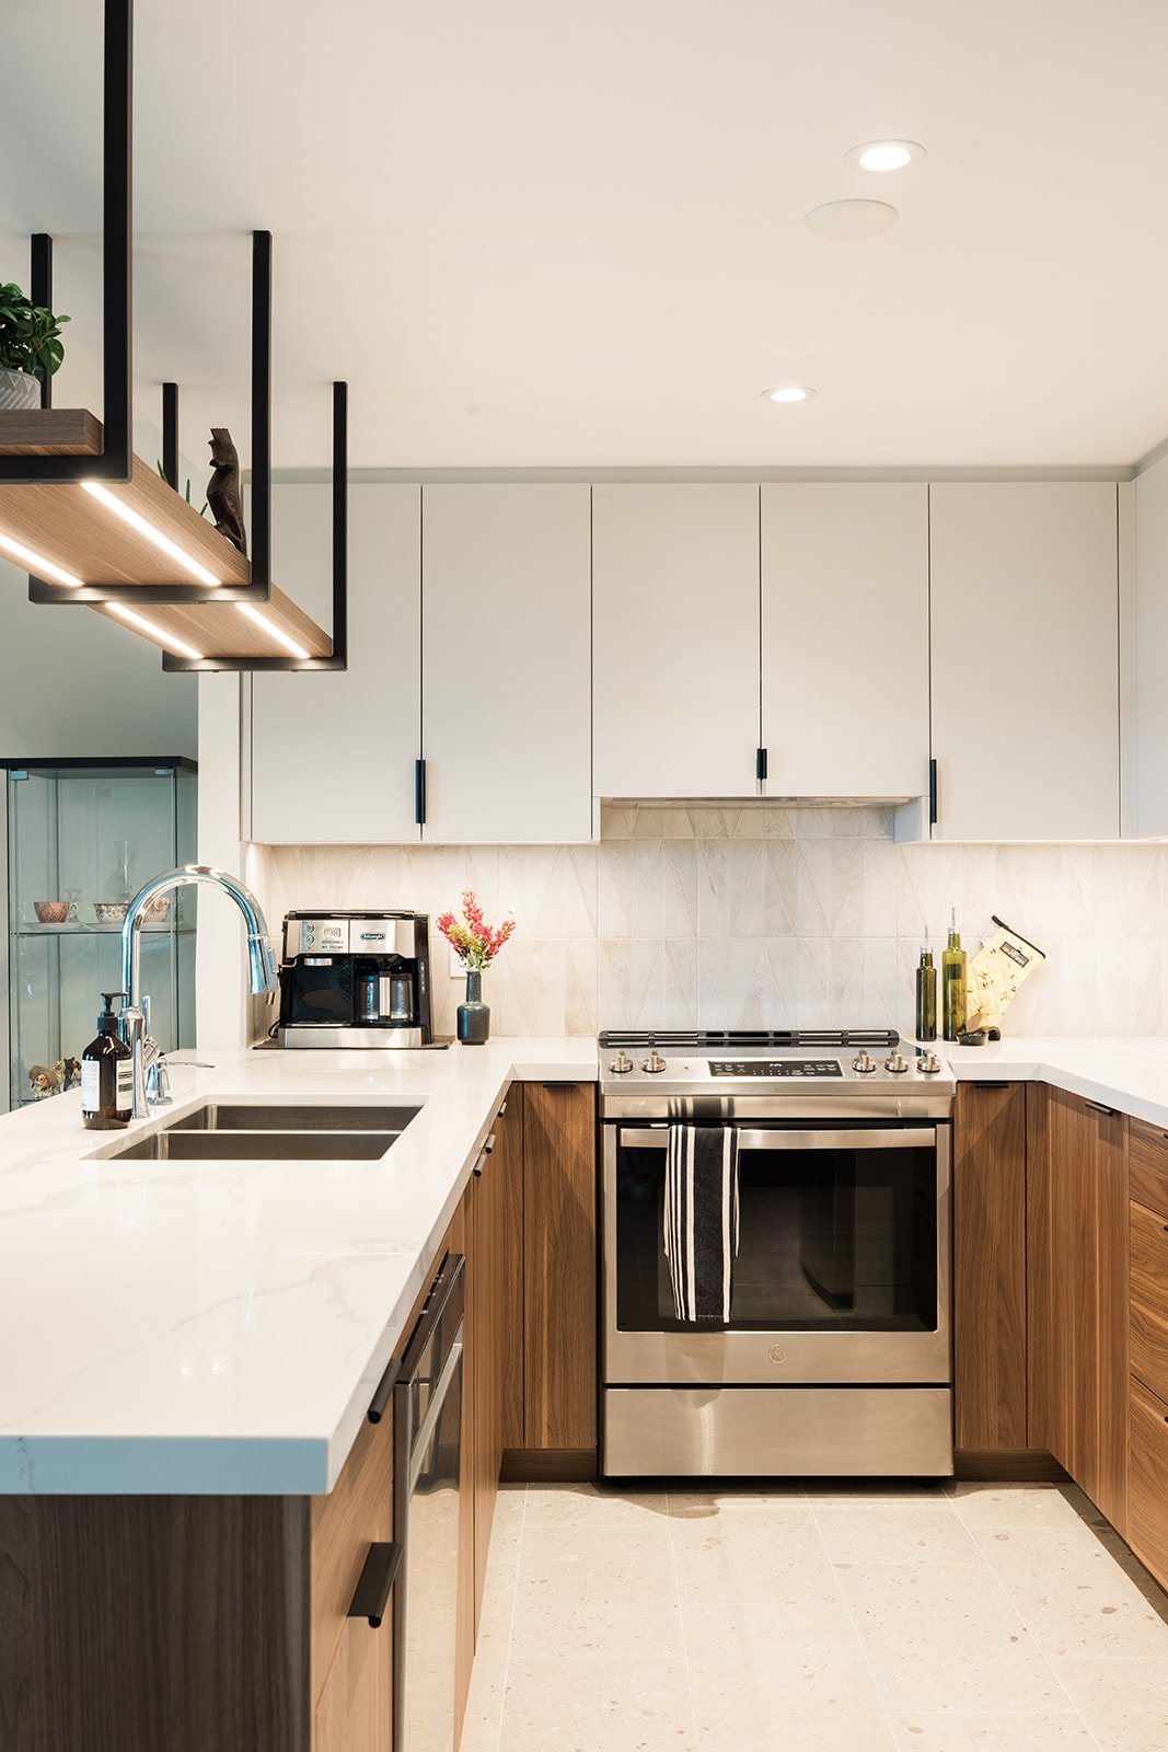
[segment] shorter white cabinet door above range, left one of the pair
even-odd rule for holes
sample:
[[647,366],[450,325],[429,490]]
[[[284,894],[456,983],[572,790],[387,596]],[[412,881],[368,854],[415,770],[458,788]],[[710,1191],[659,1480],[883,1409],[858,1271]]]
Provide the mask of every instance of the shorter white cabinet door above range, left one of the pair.
[[597,797],[755,795],[758,487],[592,489]]

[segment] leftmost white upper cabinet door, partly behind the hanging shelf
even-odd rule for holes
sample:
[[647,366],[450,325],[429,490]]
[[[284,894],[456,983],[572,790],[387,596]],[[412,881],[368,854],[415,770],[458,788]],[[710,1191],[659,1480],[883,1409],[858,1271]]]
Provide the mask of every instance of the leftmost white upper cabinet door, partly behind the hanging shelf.
[[[322,625],[333,617],[333,489],[271,494],[271,569]],[[420,489],[348,489],[348,669],[252,680],[250,837],[417,839]]]

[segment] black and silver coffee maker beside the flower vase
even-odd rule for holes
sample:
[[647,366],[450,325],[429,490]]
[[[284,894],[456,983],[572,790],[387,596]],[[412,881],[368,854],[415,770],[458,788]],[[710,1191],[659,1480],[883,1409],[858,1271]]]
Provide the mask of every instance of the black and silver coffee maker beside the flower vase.
[[287,913],[277,1039],[289,1048],[431,1046],[426,913]]

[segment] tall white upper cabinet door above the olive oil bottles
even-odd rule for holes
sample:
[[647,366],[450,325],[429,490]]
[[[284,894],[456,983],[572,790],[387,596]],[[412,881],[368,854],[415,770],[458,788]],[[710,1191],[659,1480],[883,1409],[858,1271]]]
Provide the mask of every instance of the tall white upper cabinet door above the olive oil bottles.
[[1114,482],[930,489],[935,839],[1119,834]]

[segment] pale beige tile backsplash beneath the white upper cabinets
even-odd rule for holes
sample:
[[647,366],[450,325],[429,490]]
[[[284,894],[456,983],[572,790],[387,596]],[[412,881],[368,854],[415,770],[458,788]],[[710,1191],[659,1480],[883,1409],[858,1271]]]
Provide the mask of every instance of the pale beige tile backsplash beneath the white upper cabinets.
[[[594,846],[254,846],[273,922],[298,906],[410,906],[475,888],[517,930],[483,979],[496,1034],[912,1021],[921,934],[949,908],[975,950],[996,913],[1047,964],[1012,1034],[1168,1027],[1168,846],[893,843],[890,809],[606,808]],[[461,985],[431,944],[436,1025]]]

